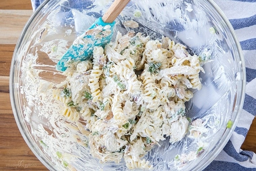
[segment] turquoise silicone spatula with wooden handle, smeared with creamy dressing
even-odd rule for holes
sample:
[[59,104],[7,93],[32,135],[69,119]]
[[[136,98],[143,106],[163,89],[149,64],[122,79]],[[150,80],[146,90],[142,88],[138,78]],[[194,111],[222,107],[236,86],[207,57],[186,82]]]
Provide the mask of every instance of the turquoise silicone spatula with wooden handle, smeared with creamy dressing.
[[67,69],[67,62],[88,60],[92,55],[93,47],[104,47],[109,43],[113,36],[115,19],[129,1],[115,0],[102,17],[98,18],[85,33],[75,39],[57,63],[56,69],[63,72]]

